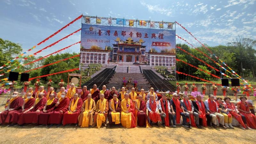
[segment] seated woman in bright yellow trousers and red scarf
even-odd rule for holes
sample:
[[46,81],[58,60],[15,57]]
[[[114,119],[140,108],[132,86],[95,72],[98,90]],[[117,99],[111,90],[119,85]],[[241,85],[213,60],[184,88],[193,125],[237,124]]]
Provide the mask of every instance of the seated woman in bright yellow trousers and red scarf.
[[216,102],[217,106],[218,106],[218,113],[220,113],[221,115],[224,116],[224,125],[227,128],[234,128],[232,126],[232,115],[228,112],[228,108],[225,104],[222,103],[222,99],[220,97],[217,98],[217,102]]

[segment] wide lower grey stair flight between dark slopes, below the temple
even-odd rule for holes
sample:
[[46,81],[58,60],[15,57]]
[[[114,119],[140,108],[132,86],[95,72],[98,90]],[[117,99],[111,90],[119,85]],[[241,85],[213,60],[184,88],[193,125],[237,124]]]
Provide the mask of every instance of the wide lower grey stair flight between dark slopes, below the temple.
[[[138,67],[139,68],[139,67]],[[139,69],[140,71],[140,69]],[[128,81],[129,78],[132,79],[131,82],[133,84],[133,81],[136,80],[137,83],[137,87],[140,90],[141,88],[143,88],[145,91],[148,91],[148,89],[150,88],[150,85],[147,81],[147,79],[145,78],[145,76],[143,74],[141,74],[140,72],[137,74],[134,73],[119,73],[116,72],[111,79],[108,81],[107,84],[107,88],[111,88],[111,87],[116,87],[116,89],[121,89],[124,86],[123,83],[123,78],[125,77],[125,80]]]

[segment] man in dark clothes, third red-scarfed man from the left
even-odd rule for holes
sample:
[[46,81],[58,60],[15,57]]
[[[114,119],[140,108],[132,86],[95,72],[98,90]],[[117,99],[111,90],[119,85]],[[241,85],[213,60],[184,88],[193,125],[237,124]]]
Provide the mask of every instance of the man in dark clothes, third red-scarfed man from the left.
[[[176,122],[174,122],[173,127],[176,127],[175,123],[180,124],[180,116],[182,116],[182,118],[183,118],[182,126],[189,127],[186,124],[186,122],[187,122],[186,118],[189,117],[189,114],[184,111],[184,109],[182,107],[182,104],[181,104],[180,100],[178,99],[177,93],[172,94],[172,99],[170,100],[170,106],[171,106],[171,109],[172,109],[172,115],[173,115],[173,112],[174,112],[173,117],[176,118]],[[172,123],[173,123],[173,119],[172,119]]]

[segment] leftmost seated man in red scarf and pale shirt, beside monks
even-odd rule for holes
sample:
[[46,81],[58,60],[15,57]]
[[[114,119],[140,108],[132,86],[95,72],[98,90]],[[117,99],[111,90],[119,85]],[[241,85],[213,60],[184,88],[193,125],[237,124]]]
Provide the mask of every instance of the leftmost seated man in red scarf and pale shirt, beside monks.
[[155,100],[154,95],[150,95],[150,99],[147,101],[147,109],[148,109],[148,121],[150,125],[152,123],[156,123],[157,126],[159,126],[158,121],[161,121],[159,111],[158,111],[158,105]]

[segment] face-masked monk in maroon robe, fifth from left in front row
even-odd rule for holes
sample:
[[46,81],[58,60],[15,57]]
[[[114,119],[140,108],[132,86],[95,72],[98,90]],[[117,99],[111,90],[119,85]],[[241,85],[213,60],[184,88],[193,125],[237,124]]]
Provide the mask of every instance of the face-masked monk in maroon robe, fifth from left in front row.
[[[63,94],[64,94],[64,96],[63,96]],[[59,127],[61,125],[63,114],[68,110],[69,101],[70,100],[67,97],[67,93],[63,92],[61,94],[61,98],[55,104],[56,108],[54,108],[54,110],[49,113],[49,115],[50,115],[49,116],[49,124],[51,124],[49,126],[49,128],[52,127],[53,124],[58,124],[57,127]]]

